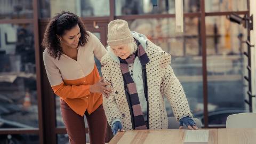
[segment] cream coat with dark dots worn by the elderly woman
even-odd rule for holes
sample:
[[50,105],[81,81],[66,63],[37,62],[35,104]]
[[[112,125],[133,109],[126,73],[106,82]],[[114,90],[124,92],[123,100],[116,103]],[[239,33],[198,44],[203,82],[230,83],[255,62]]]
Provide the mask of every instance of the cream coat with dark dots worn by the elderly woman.
[[[146,65],[149,127],[150,129],[167,129],[168,120],[164,97],[167,97],[171,103],[177,121],[184,115],[192,117],[192,114],[183,87],[171,68],[171,55],[149,40],[146,46],[146,53],[150,59]],[[103,97],[103,108],[107,121],[111,125],[114,119],[119,118],[125,130],[132,130],[130,109],[126,100],[119,63],[107,53],[102,57],[101,64],[102,76],[111,83],[113,90],[109,98]]]

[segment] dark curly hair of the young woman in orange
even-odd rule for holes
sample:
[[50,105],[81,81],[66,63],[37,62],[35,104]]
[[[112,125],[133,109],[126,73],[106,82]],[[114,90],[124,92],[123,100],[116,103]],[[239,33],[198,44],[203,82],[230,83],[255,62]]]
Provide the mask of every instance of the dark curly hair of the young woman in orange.
[[74,28],[77,24],[80,28],[81,33],[78,45],[84,46],[88,41],[89,34],[86,32],[83,22],[76,14],[62,11],[61,13],[55,14],[55,17],[51,19],[46,27],[42,42],[42,46],[47,49],[51,57],[53,57],[54,59],[58,57],[58,60],[60,60],[60,56],[63,51],[57,35],[65,35],[66,30]]

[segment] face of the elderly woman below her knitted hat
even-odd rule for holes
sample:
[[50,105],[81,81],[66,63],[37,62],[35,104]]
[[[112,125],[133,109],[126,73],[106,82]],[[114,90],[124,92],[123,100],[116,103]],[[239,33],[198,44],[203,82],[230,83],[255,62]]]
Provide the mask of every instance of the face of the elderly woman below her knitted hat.
[[111,46],[111,49],[113,50],[113,52],[116,54],[117,57],[123,60],[128,58],[131,55],[131,49],[127,44]]

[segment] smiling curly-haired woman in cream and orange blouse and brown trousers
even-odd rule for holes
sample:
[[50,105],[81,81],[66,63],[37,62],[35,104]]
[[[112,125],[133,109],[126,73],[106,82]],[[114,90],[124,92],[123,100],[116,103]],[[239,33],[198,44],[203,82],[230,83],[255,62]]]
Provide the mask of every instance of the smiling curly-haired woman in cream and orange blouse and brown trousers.
[[70,143],[86,143],[84,115],[90,143],[105,143],[106,116],[102,93],[109,94],[94,62],[106,54],[99,39],[86,31],[77,15],[57,13],[44,33],[44,65],[55,94],[61,99],[61,113]]

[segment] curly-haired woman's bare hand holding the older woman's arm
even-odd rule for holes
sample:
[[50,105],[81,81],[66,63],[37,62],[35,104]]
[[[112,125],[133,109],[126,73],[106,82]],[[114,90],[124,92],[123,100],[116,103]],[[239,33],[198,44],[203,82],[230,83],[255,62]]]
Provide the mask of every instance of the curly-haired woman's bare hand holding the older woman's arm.
[[104,95],[107,95],[107,97],[108,97],[109,94],[111,93],[111,89],[107,88],[107,85],[110,85],[110,84],[104,83],[103,78],[100,78],[100,80],[97,83],[90,85],[90,92],[91,93],[102,93]]

